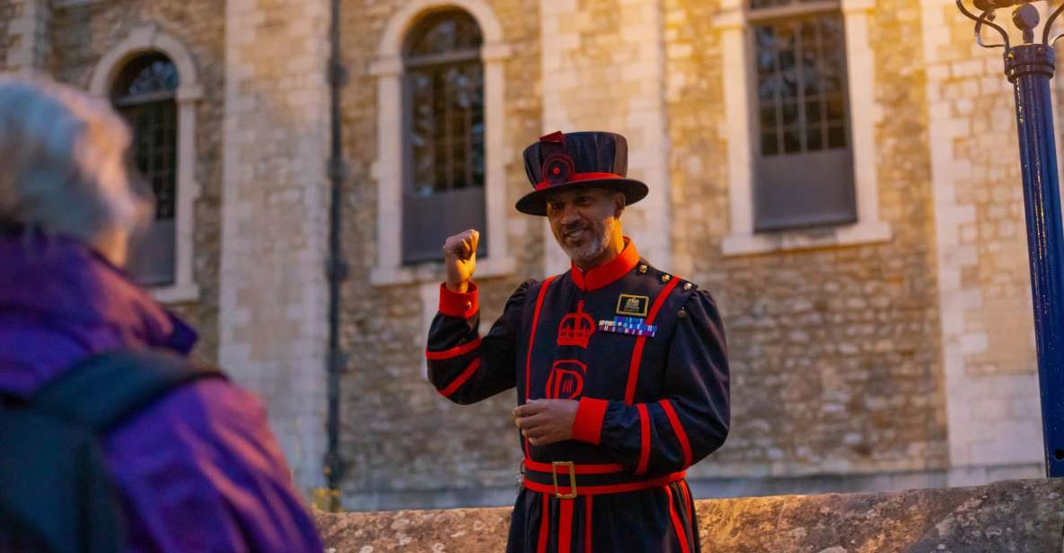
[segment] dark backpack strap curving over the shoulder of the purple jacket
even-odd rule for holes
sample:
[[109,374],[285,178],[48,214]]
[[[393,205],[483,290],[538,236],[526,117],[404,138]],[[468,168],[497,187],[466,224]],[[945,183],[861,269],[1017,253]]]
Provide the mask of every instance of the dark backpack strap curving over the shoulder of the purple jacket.
[[99,435],[179,386],[223,378],[215,367],[174,354],[117,351],[79,363],[41,386],[30,404],[34,410],[76,422]]

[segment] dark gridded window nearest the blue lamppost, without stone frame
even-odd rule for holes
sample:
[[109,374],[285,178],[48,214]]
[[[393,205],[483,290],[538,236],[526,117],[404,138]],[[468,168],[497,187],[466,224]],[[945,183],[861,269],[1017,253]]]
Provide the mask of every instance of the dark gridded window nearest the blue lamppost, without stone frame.
[[750,0],[755,231],[858,219],[838,0]]

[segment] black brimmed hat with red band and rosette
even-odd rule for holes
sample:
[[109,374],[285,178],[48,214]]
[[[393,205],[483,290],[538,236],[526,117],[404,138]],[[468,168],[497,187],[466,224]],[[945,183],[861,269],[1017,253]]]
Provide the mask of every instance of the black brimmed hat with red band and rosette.
[[611,188],[625,194],[628,204],[647,196],[649,188],[628,179],[628,140],[616,133],[561,131],[541,136],[525,149],[525,172],[535,190],[517,201],[517,211],[547,215],[547,197],[578,187]]

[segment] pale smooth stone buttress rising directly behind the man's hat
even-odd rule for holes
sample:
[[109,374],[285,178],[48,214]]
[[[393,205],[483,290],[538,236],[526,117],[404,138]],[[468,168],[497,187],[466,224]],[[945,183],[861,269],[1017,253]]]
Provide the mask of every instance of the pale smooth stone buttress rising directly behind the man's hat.
[[[543,130],[602,130],[628,138],[628,175],[650,194],[625,212],[625,232],[639,253],[669,267],[671,205],[664,110],[662,6],[639,0],[541,2]],[[547,240],[553,238],[547,233]],[[548,247],[547,272],[569,262]]]

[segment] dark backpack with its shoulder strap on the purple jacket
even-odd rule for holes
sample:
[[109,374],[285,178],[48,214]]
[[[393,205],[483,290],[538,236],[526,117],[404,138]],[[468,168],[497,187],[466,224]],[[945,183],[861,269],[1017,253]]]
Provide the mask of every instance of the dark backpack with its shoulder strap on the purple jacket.
[[173,354],[118,351],[79,363],[29,400],[7,398],[0,418],[0,534],[29,540],[22,549],[16,541],[16,551],[121,551],[121,510],[98,437],[204,378],[223,376]]

